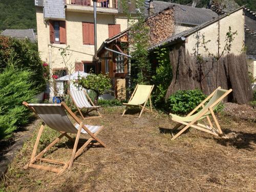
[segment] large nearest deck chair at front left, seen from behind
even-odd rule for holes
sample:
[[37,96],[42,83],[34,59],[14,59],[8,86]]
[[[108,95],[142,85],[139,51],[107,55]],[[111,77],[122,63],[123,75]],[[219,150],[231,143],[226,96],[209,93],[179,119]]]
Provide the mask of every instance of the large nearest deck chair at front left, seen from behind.
[[[28,104],[27,102],[24,101],[23,104],[26,105],[34,113],[36,113],[42,119],[42,121],[44,121],[39,129],[30,161],[28,164],[24,166],[25,169],[27,169],[28,167],[43,169],[43,170],[48,170],[50,172],[56,172],[59,175],[59,174],[62,174],[67,167],[69,168],[72,167],[74,159],[77,158],[80,154],[82,154],[84,148],[86,148],[92,142],[93,139],[105,147],[105,144],[99,138],[97,138],[97,134],[103,129],[103,126],[93,126],[93,125],[83,124],[83,122],[80,121],[80,119],[77,118],[75,114],[68,108],[65,102],[61,102],[61,104]],[[65,110],[74,118],[74,120],[76,121],[75,124],[73,124],[70,121]],[[52,129],[60,132],[61,134],[51,144],[49,144],[44,150],[42,150],[40,153],[36,155],[38,142],[40,140],[42,131],[45,128],[45,125],[48,125]],[[68,133],[76,134],[75,140],[72,137],[70,137]],[[77,150],[77,144],[78,144],[81,133],[88,134],[91,136],[91,138],[88,139]],[[63,136],[66,136],[70,141],[74,141],[73,152],[70,159],[67,162],[61,162],[57,160],[42,158],[42,155],[44,155]],[[54,168],[54,167],[34,164],[36,161],[39,161],[39,162],[43,161],[43,162],[48,162],[53,164],[61,164],[62,167]]]

